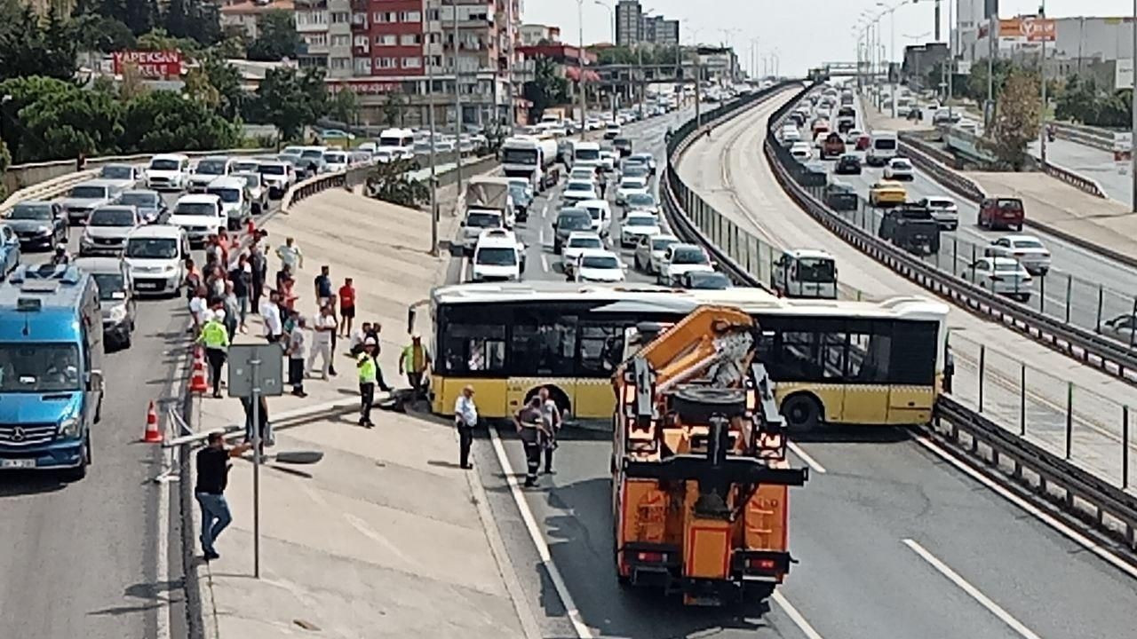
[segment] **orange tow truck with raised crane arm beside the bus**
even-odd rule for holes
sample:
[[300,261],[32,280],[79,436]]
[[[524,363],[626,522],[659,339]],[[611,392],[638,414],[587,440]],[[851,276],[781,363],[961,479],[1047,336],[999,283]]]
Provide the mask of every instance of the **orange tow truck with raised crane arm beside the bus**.
[[808,468],[786,459],[760,337],[748,314],[716,306],[628,330],[613,375],[621,584],[681,592],[687,605],[752,604],[789,572],[789,487]]

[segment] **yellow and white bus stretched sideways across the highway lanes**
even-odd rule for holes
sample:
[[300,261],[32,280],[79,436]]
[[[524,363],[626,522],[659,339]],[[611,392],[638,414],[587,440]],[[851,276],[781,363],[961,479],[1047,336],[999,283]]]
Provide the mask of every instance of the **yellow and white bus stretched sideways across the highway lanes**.
[[624,332],[675,322],[700,305],[735,306],[761,329],[762,363],[787,423],[922,424],[944,370],[947,306],[786,299],[763,289],[503,282],[431,293],[432,409],[454,410],[472,384],[487,417],[513,415],[540,387],[576,418],[611,418]]

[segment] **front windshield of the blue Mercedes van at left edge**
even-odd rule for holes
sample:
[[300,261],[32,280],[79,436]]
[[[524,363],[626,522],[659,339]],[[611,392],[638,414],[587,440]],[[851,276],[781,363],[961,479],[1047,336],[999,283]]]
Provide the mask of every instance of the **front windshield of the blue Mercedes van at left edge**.
[[80,390],[78,348],[72,343],[0,343],[0,392]]

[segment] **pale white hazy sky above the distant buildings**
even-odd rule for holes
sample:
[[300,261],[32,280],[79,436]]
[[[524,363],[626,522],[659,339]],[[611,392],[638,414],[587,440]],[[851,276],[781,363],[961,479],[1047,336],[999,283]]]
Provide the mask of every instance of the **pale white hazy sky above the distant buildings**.
[[[578,42],[578,2],[522,1],[523,22],[559,26],[562,40]],[[894,7],[902,2],[885,0],[883,6]],[[944,0],[940,10],[943,41],[947,40],[947,2]],[[1130,0],[999,0],[999,15],[1034,14],[1039,2],[1045,2],[1046,15],[1054,18],[1128,16],[1134,8]],[[613,40],[612,14],[601,5],[615,7],[615,0],[583,0],[580,6],[586,43]],[[877,5],[878,0],[640,0],[645,13],[678,18],[684,44],[730,43],[744,68],[756,66],[761,73],[777,60],[782,75],[802,75],[821,63],[855,60],[857,35],[853,28],[862,11],[874,9]],[[898,59],[906,44],[932,40],[932,0],[905,2],[893,16],[896,22],[893,26],[896,56],[889,56],[891,59]],[[888,16],[880,24],[883,43],[890,47]]]

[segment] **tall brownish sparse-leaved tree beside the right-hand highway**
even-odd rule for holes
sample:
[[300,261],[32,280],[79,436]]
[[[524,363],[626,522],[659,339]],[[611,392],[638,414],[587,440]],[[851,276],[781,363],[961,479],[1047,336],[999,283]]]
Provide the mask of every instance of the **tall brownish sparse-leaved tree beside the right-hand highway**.
[[995,121],[981,146],[999,163],[1021,171],[1027,161],[1027,146],[1038,139],[1039,126],[1038,82],[1029,73],[1012,70],[999,93]]

